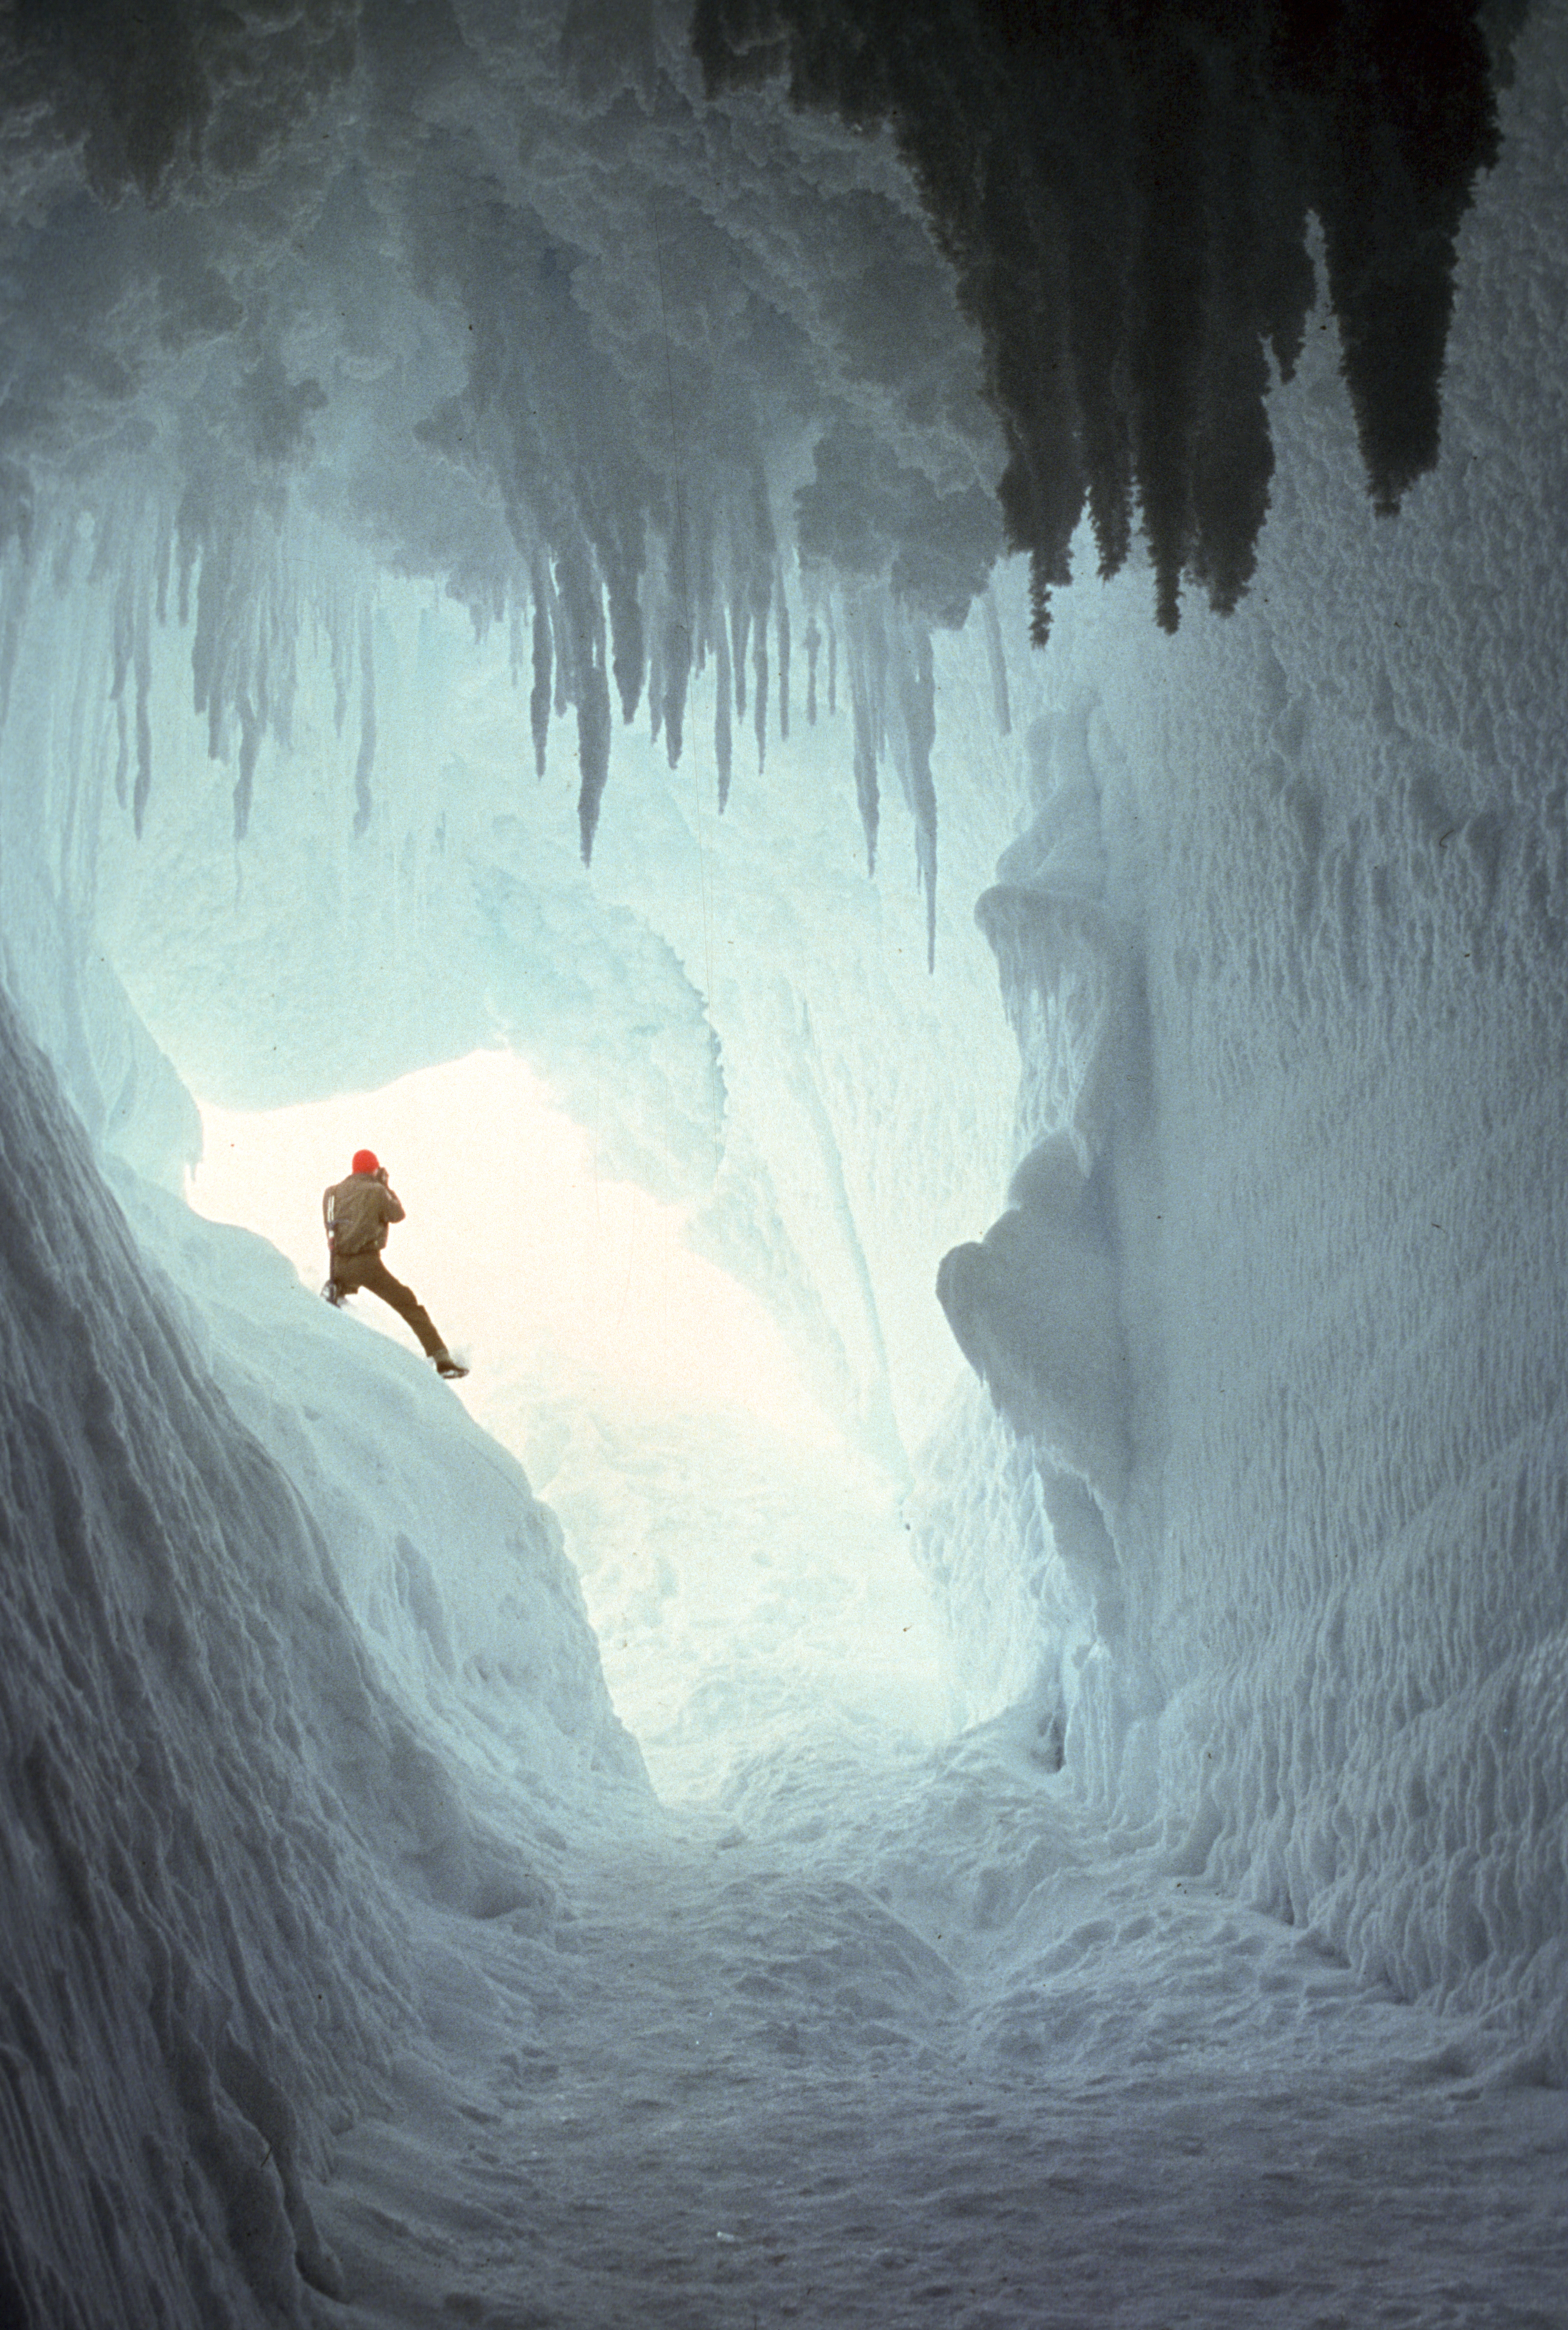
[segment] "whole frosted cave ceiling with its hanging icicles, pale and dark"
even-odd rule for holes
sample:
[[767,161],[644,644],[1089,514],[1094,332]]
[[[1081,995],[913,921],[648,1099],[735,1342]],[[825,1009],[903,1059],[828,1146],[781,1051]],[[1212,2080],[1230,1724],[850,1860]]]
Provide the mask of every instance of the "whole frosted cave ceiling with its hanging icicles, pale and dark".
[[[356,829],[363,603],[391,566],[480,629],[527,613],[534,764],[552,699],[575,713],[585,857],[613,706],[629,720],[650,687],[678,757],[687,673],[720,643],[720,802],[748,694],[764,764],[799,559],[857,601],[867,857],[885,736],[930,920],[927,708],[902,659],[918,673],[923,631],[962,622],[1004,527],[1044,634],[1083,508],[1111,573],[1137,506],[1163,624],[1184,576],[1237,601],[1272,468],[1265,350],[1288,373],[1314,291],[1309,210],[1379,503],[1435,459],[1452,242],[1496,149],[1468,0],[1428,12],[1419,75],[1393,19],[1330,9],[1307,44],[1263,0],[1223,26],[1198,0],[1048,9],[1027,33],[981,0],[939,26],[610,9],[592,70],[552,0],[170,12],[137,19],[130,56],[100,12],[56,14],[0,33],[5,510],[19,555],[84,513],[123,564],[135,818],[170,559],[238,836],[289,729],[294,543],[326,524],[331,557],[361,559]],[[848,128],[792,116],[781,68]],[[881,121],[892,140],[864,135]]]

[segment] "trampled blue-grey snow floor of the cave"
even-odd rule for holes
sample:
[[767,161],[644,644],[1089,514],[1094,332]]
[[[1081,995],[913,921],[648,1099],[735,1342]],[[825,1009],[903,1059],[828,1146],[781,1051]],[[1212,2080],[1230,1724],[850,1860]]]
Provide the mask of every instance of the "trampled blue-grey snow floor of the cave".
[[1568,2097],[1095,1829],[1016,1717],[727,1799],[585,1845],[550,1929],[426,1915],[322,2325],[1568,2318]]

